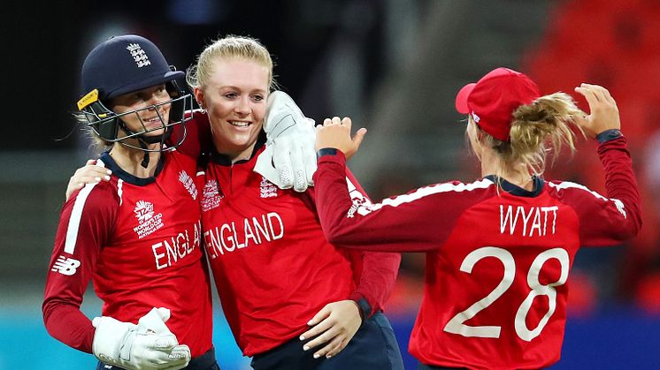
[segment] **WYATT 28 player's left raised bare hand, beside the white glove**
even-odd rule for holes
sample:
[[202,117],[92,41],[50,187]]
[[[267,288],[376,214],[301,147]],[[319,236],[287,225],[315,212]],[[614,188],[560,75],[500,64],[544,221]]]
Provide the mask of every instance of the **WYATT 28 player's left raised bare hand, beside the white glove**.
[[325,147],[334,147],[341,150],[344,156],[346,156],[346,159],[349,160],[350,157],[357,153],[357,149],[362,144],[362,140],[365,140],[366,135],[366,129],[361,128],[351,138],[351,125],[352,123],[349,117],[344,117],[341,120],[339,117],[333,117],[332,119],[326,118],[323,121],[323,125],[316,127],[316,150],[318,151]]

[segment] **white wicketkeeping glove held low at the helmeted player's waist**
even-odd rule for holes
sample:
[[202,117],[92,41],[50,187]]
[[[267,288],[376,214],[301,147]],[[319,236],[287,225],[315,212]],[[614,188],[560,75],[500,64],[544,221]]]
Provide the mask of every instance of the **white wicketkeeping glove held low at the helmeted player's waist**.
[[188,366],[190,349],[167,328],[169,318],[170,310],[162,307],[151,309],[137,325],[96,317],[92,351],[104,363],[127,370],[179,370]]

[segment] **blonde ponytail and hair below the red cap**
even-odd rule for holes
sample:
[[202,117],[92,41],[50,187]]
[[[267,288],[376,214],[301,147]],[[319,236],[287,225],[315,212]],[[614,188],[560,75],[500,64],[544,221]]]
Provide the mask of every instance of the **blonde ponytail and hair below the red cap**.
[[512,116],[509,141],[497,140],[483,133],[481,145],[491,147],[499,157],[495,175],[505,169],[524,166],[530,175],[541,176],[552,154],[553,162],[563,147],[575,152],[575,127],[584,135],[575,117],[584,116],[569,94],[555,93],[541,96],[530,104],[521,105]]

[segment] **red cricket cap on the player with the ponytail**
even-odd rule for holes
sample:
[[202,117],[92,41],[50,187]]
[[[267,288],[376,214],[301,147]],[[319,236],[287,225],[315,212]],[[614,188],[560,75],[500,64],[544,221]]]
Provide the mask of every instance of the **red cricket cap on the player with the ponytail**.
[[540,97],[539,87],[524,73],[496,68],[456,96],[456,109],[469,114],[481,130],[497,140],[509,140],[513,112]]

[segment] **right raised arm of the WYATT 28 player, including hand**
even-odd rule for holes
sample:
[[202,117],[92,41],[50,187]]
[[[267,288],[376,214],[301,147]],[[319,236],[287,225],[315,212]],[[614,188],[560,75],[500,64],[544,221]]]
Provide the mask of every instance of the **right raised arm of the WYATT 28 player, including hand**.
[[599,141],[607,194],[602,197],[587,188],[568,188],[565,196],[575,202],[583,245],[618,244],[641,229],[641,205],[627,140],[620,132],[617,102],[604,87],[582,84],[575,91],[589,104],[591,113],[579,117],[577,123],[587,136]]

